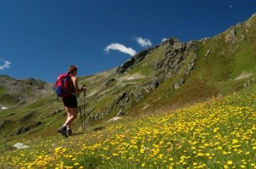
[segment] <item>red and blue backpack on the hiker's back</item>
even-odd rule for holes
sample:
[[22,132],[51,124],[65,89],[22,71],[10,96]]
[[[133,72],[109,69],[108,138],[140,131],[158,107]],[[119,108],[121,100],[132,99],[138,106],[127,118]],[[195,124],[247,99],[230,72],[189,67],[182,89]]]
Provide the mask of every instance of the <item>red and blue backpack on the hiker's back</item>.
[[64,73],[58,76],[55,86],[53,88],[58,97],[64,98],[72,92],[71,75]]

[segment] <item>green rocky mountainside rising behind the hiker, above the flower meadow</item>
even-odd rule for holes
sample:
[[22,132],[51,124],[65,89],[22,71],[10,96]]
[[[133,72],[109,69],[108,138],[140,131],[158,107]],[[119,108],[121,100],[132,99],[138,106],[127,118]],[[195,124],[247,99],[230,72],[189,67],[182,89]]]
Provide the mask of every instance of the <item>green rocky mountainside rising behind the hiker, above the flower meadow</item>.
[[[245,88],[255,91],[255,35],[253,14],[215,37],[190,42],[172,37],[117,68],[79,77],[80,85],[88,88],[85,97],[79,96],[79,103],[86,105],[82,110],[86,115],[84,124],[99,129],[114,116],[158,114]],[[0,137],[6,141],[55,135],[56,128],[65,121],[65,112],[55,93],[48,91],[34,102],[26,101],[28,104],[22,107],[1,111]],[[5,102],[17,104],[23,100],[13,98]],[[73,125],[75,132],[81,131],[80,126],[78,119]]]

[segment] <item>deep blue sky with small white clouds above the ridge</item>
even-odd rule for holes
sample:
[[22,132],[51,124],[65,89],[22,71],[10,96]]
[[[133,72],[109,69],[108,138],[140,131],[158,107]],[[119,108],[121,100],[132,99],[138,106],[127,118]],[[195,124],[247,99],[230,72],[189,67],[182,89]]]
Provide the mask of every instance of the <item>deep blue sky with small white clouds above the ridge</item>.
[[0,74],[55,82],[89,76],[165,38],[218,35],[256,13],[255,0],[0,0]]

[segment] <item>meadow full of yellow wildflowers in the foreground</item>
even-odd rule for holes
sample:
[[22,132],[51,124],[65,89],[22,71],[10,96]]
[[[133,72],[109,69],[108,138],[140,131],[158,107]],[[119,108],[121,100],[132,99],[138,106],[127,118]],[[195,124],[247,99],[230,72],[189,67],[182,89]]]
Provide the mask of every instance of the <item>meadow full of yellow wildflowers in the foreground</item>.
[[[256,93],[2,147],[2,168],[256,168]],[[18,141],[28,149],[10,146]],[[5,151],[3,153],[3,150]]]

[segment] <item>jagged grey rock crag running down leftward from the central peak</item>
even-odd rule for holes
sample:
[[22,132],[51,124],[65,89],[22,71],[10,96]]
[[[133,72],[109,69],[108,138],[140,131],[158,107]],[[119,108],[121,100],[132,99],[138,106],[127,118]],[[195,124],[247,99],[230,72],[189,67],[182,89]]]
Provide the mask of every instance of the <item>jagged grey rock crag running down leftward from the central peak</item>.
[[[123,65],[119,66],[116,73],[121,74],[131,69],[133,65],[136,65],[145,59],[151,50],[163,46],[167,48],[164,57],[160,57],[161,59],[154,59],[150,65],[150,68],[154,69],[152,78],[148,79],[147,82],[137,84],[133,87],[124,86],[124,91],[120,93],[116,99],[113,99],[112,104],[110,104],[106,110],[103,110],[102,112],[91,112],[90,119],[86,121],[86,124],[89,124],[89,120],[98,121],[102,119],[104,116],[108,115],[109,112],[115,112],[116,116],[126,115],[126,110],[129,110],[131,104],[143,101],[143,99],[147,97],[147,94],[159,87],[160,83],[166,81],[166,79],[175,76],[181,68],[184,70],[184,76],[188,75],[195,68],[195,60],[197,59],[195,54],[195,42],[191,41],[183,43],[179,42],[177,38],[172,37],[165,42],[162,42],[159,46],[144,50],[125,61]],[[188,57],[190,57],[189,64],[183,65],[183,60]],[[113,82],[118,83],[119,81],[116,78],[111,77],[103,82],[103,87],[106,89],[107,87],[110,87]],[[174,84],[173,87],[177,89],[181,87],[184,82],[185,79],[182,78]],[[126,87],[128,87],[128,89],[125,89]],[[97,99],[101,98],[102,97],[97,97]]]

